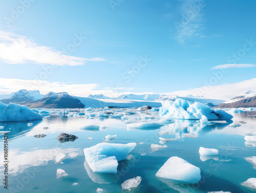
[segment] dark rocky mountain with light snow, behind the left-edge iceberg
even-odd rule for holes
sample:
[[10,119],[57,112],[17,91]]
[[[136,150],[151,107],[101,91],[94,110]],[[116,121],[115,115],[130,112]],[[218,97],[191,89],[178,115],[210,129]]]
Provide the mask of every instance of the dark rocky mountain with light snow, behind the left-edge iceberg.
[[68,93],[54,93],[50,92],[45,95],[42,99],[29,103],[29,108],[84,108],[84,104],[77,98],[70,96]]

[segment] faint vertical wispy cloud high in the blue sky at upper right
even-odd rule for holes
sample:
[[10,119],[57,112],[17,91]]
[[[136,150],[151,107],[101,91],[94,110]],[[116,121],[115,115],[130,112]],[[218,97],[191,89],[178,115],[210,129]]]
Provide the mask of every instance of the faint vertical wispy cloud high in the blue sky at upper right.
[[176,39],[180,44],[196,38],[205,37],[201,34],[203,29],[203,13],[202,8],[206,4],[199,3],[198,0],[182,1],[180,22],[175,22],[177,29]]

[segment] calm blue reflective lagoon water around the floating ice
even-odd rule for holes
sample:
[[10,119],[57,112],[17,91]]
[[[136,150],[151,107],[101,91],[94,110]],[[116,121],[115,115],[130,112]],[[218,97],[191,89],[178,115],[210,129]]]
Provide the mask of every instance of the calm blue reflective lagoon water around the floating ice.
[[[78,110],[84,111],[84,110]],[[97,111],[97,110],[93,110]],[[136,109],[124,111],[136,112],[128,115],[130,121],[145,121]],[[96,114],[97,112],[95,112]],[[56,110],[57,114],[57,110]],[[233,121],[244,121],[239,127],[231,127],[225,121],[210,125],[200,125],[197,121],[175,120],[154,130],[127,130],[126,123],[113,118],[59,117],[54,115],[44,117],[41,121],[0,123],[9,132],[9,191],[3,183],[0,192],[126,192],[121,190],[121,184],[130,178],[141,176],[140,187],[129,192],[207,192],[230,191],[252,192],[240,183],[248,178],[256,177],[256,169],[244,160],[248,156],[256,156],[256,144],[245,144],[244,136],[256,131],[256,112],[244,112],[234,115]],[[141,119],[142,120],[139,120]],[[158,121],[158,113],[146,115],[147,121]],[[33,123],[27,124],[27,123]],[[106,126],[98,131],[87,131],[87,124]],[[49,127],[45,130],[44,127]],[[78,136],[74,142],[60,143],[56,138],[65,132]],[[184,137],[193,134],[194,138]],[[45,134],[44,138],[34,135]],[[130,160],[119,162],[118,173],[93,173],[84,159],[83,148],[91,147],[104,141],[106,135],[117,135],[112,143],[137,142]],[[92,140],[88,140],[92,137]],[[159,144],[159,137],[176,138],[176,141],[164,143],[167,148],[151,151],[151,144]],[[139,142],[144,142],[139,144]],[[3,160],[3,134],[1,135],[0,160]],[[254,145],[254,146],[253,146]],[[199,147],[217,148],[219,158],[200,158]],[[62,163],[54,161],[57,153],[66,154]],[[76,158],[68,154],[77,152]],[[144,156],[140,154],[144,153]],[[201,169],[202,180],[196,185],[173,184],[167,180],[156,178],[158,169],[172,156],[178,156]],[[0,177],[3,179],[3,167],[0,167]],[[56,179],[56,170],[64,169],[68,176]],[[78,185],[72,185],[78,183]],[[11,188],[11,189],[10,189]]]

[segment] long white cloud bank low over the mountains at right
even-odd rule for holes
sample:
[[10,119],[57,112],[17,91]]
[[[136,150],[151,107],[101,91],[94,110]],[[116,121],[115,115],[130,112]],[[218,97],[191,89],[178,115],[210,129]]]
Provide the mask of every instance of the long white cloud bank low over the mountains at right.
[[[192,90],[175,91],[167,94],[175,94],[178,96],[204,96],[213,99],[231,99],[236,95],[245,93],[246,91],[256,91],[256,78],[244,80],[236,83],[227,83],[222,85],[204,86]],[[166,94],[166,93],[165,93]]]

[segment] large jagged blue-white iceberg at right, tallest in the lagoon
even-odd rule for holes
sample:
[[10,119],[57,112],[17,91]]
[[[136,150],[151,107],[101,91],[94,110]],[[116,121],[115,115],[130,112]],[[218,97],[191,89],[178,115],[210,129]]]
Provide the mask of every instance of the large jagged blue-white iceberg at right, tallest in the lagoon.
[[162,101],[162,107],[160,108],[161,118],[200,120],[205,119],[204,116],[207,120],[230,120],[233,118],[232,115],[209,108],[201,102],[191,102],[180,98],[175,101]]

